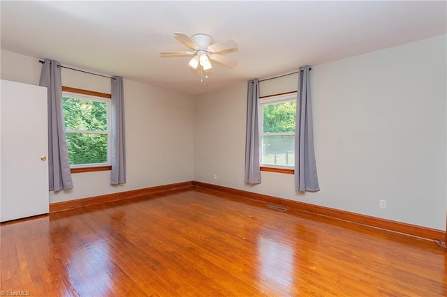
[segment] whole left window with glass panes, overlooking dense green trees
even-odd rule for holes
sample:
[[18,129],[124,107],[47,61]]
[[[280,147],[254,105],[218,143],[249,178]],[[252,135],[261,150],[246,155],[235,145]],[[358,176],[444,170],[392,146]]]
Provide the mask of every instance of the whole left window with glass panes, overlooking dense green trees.
[[78,91],[82,93],[62,93],[68,159],[72,172],[75,168],[110,166],[111,102],[104,98],[108,94]]

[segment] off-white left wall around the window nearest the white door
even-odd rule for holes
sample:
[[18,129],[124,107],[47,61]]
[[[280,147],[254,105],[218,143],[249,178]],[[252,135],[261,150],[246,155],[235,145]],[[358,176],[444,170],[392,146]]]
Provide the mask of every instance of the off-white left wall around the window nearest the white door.
[[[38,59],[1,51],[1,79],[38,84],[40,72]],[[62,84],[110,93],[110,79],[64,68]],[[110,172],[73,174],[73,190],[50,192],[50,202],[193,180],[193,96],[124,79],[124,100],[127,183],[110,185]]]

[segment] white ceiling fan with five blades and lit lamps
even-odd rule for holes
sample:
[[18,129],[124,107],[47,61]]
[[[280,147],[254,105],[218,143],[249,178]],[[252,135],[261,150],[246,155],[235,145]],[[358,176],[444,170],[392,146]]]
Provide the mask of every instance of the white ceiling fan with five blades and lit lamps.
[[200,65],[203,70],[210,70],[212,68],[210,60],[217,61],[228,68],[234,68],[236,66],[237,62],[235,60],[217,54],[226,50],[237,49],[237,43],[234,39],[228,39],[221,43],[214,43],[213,45],[211,36],[206,34],[195,34],[191,38],[185,33],[176,32],[174,35],[175,39],[193,51],[160,52],[161,56],[193,56],[191,61],[189,61],[189,66],[194,69],[197,69]]

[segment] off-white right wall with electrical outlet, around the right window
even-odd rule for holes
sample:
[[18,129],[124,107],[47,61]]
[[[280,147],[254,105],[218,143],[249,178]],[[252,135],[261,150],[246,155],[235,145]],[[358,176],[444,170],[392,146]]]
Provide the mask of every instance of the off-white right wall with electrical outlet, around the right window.
[[[313,66],[316,193],[295,192],[290,174],[244,184],[246,84],[196,96],[194,179],[445,230],[446,65],[438,36]],[[261,82],[261,96],[297,83]]]

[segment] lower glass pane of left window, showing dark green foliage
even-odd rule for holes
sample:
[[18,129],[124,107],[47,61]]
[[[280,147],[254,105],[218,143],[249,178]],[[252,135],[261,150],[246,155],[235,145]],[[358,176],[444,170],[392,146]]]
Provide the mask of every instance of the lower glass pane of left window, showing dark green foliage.
[[66,135],[70,165],[107,163],[107,134]]

